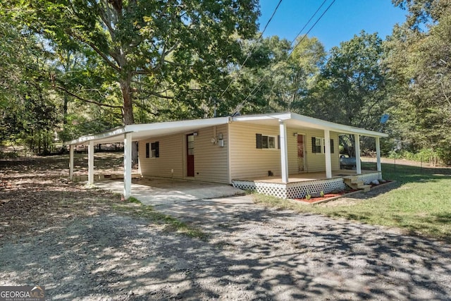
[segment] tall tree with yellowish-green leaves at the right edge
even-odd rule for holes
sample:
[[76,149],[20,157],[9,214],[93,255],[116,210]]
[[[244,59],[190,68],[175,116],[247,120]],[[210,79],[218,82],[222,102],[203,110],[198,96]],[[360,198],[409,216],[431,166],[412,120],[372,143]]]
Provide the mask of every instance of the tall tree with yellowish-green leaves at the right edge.
[[385,63],[395,80],[393,131],[414,151],[431,149],[451,164],[451,6],[449,1],[400,4],[416,23],[395,27],[387,42]]

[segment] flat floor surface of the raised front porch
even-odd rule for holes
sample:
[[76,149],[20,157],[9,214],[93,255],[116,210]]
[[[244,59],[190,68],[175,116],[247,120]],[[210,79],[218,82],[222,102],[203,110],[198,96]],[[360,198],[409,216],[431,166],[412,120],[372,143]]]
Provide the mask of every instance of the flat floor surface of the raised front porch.
[[[368,173],[377,173],[378,171],[363,171],[362,175],[368,174]],[[350,169],[338,169],[336,171],[332,171],[332,178],[342,178],[344,176],[355,176],[357,175],[355,170]],[[326,180],[326,171],[320,171],[316,173],[294,173],[290,174],[288,176],[288,183],[297,183],[297,182],[304,182],[309,180]],[[235,179],[235,180],[242,180],[242,181],[252,181],[252,182],[260,182],[260,183],[276,183],[276,184],[283,184],[282,178],[277,176],[266,176],[266,177],[260,177],[260,178],[242,178],[242,179]]]

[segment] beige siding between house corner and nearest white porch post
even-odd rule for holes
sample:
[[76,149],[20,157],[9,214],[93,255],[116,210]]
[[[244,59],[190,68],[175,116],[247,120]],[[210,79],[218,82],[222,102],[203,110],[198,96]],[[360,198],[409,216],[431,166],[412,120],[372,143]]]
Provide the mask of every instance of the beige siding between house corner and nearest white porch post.
[[255,134],[278,136],[278,127],[230,123],[230,176],[232,180],[280,176],[280,149],[257,149]]

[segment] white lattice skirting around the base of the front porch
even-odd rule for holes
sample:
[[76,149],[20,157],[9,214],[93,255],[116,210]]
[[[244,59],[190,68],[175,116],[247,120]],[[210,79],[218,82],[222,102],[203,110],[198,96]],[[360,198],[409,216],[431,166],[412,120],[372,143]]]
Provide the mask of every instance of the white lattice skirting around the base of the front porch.
[[[359,180],[364,180],[365,184],[371,183],[373,180],[382,178],[381,173],[366,173],[364,175],[357,175]],[[280,199],[297,199],[305,197],[308,193],[324,193],[333,190],[344,190],[346,188],[343,178],[322,179],[322,180],[308,180],[302,182],[294,182],[288,184],[279,183],[265,183],[254,182],[247,180],[233,180],[233,187],[242,190],[252,190],[264,195],[272,195]]]

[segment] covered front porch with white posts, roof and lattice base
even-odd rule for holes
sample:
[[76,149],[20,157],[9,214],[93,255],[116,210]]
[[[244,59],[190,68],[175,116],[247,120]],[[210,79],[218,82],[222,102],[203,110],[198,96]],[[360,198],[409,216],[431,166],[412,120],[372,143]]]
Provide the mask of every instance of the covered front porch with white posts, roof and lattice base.
[[[235,178],[232,180],[232,183],[236,188],[254,190],[283,199],[302,198],[314,192],[319,193],[322,191],[327,193],[333,190],[345,190],[347,187],[345,182],[348,182],[350,179],[369,184],[373,180],[382,178],[380,138],[388,137],[385,133],[323,121],[291,112],[264,116],[240,116],[236,118],[236,121],[278,126],[281,171],[279,177]],[[297,136],[298,133],[302,133],[305,129],[321,130],[323,133],[324,143],[321,144],[319,152],[323,155],[325,168],[319,172],[308,172],[307,168],[307,172],[290,173],[288,141],[291,135]],[[291,133],[292,131],[294,133]],[[332,158],[335,154],[331,152],[330,147],[330,135],[333,132],[338,133],[338,135],[354,136],[355,170],[333,169]],[[360,140],[364,136],[374,138],[374,148],[376,149],[376,168],[374,171],[362,170]]]

